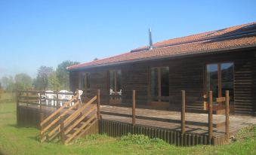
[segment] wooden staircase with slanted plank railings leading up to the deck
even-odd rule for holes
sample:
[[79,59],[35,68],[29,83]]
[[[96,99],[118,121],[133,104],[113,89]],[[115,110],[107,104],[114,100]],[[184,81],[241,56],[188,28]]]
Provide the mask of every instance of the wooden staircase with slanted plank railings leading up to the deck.
[[[86,135],[91,126],[100,119],[100,90],[97,96],[90,101],[81,104],[79,94],[54,111],[40,123],[41,142],[61,141],[68,144],[76,138]],[[72,106],[71,103],[74,102]],[[97,102],[97,104],[93,104]],[[69,108],[67,108],[69,106]]]

